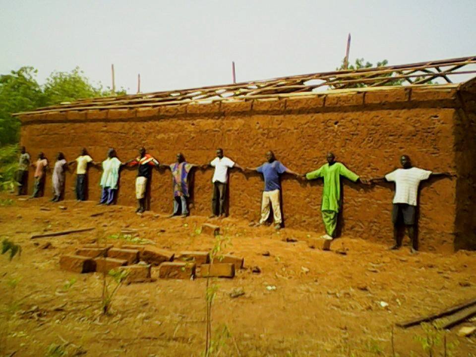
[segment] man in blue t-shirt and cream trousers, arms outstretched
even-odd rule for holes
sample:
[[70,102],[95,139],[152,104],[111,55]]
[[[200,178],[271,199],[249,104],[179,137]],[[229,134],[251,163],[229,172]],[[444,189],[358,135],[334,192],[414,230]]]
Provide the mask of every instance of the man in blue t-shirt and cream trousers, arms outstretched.
[[281,207],[280,207],[280,190],[281,185],[279,181],[279,176],[284,173],[295,175],[299,178],[299,174],[294,171],[287,169],[281,162],[276,160],[274,153],[268,151],[266,153],[266,160],[263,165],[257,168],[246,168],[248,171],[257,171],[260,174],[263,174],[264,178],[264,191],[263,191],[263,200],[261,203],[261,219],[259,224],[262,225],[266,222],[269,217],[270,203],[273,207],[274,214],[274,228],[280,229],[283,220],[281,218]]

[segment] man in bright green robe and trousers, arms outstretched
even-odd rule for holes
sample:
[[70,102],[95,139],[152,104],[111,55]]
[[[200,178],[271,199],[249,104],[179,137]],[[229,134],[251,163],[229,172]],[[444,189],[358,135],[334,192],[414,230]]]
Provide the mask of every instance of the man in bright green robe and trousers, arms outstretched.
[[[359,182],[359,177],[346,168],[342,163],[337,162],[335,155],[327,153],[327,164],[319,169],[307,173],[304,177],[311,179],[324,179],[324,189],[322,191],[322,220],[326,229],[323,238],[333,239],[337,226],[337,215],[341,208],[341,176],[350,179],[353,182]],[[362,183],[367,184],[366,181]]]

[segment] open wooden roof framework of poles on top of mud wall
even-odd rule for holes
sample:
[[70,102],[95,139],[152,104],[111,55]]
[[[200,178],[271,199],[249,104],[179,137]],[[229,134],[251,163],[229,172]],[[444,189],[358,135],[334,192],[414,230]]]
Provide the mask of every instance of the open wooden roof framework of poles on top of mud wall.
[[[452,79],[454,80],[459,74],[476,74],[476,69],[473,68],[460,70],[468,65],[476,65],[476,56],[385,67],[360,68],[357,70],[346,69],[310,73],[268,80],[179,89],[174,91],[88,98],[71,103],[38,108],[32,112],[16,113],[14,115],[71,110],[155,107],[231,99],[245,100],[257,96],[269,98],[273,96],[279,97],[281,95],[310,94],[318,88],[337,90],[356,87],[388,86],[392,85],[396,80],[404,80],[408,82],[409,86],[428,83],[436,78],[442,78],[446,83],[453,83]],[[450,76],[452,79],[450,79]],[[319,83],[309,84],[308,82],[311,80],[319,80]]]

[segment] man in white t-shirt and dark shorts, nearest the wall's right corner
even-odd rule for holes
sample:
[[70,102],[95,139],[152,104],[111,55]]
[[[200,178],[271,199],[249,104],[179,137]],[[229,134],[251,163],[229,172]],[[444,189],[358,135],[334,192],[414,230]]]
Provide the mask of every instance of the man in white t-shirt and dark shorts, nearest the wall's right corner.
[[407,228],[412,242],[411,252],[418,250],[416,237],[416,207],[418,204],[418,185],[420,181],[429,179],[430,176],[448,176],[449,173],[433,173],[428,170],[412,167],[410,157],[403,155],[400,158],[402,169],[397,169],[385,175],[383,178],[372,179],[372,182],[387,181],[395,182],[395,196],[393,198],[392,223],[394,225],[395,245],[390,249],[399,249],[402,246],[402,238],[398,234],[398,227],[402,223]]

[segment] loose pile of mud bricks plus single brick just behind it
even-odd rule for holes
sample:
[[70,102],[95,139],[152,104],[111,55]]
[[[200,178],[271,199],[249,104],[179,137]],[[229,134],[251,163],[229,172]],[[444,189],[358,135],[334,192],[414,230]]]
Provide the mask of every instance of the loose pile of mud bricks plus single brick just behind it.
[[[220,227],[202,226],[202,234],[218,236]],[[242,269],[244,259],[234,255],[222,255],[210,261],[208,251],[180,251],[177,254],[153,245],[86,244],[75,254],[63,255],[60,267],[75,273],[99,272],[126,269],[127,283],[159,279],[194,279],[195,277],[233,278]]]

